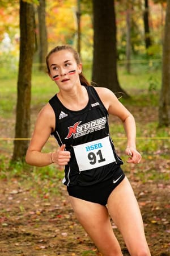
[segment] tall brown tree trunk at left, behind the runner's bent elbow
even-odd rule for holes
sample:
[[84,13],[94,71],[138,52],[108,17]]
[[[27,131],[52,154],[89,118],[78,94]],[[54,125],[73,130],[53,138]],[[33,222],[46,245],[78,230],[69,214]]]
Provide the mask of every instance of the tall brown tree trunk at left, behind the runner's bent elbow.
[[34,52],[33,5],[20,1],[20,56],[15,141],[12,160],[23,159],[30,136],[31,72]]

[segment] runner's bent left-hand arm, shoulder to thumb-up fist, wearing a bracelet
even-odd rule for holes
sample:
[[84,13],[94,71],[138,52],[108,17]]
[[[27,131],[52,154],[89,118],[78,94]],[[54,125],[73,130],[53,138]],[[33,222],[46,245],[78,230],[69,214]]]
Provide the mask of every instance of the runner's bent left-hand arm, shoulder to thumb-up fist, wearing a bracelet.
[[37,117],[35,129],[29,144],[25,161],[32,166],[48,166],[57,163],[59,166],[66,165],[70,160],[70,152],[61,146],[55,152],[42,153],[41,150],[48,141],[56,121],[52,107],[46,104]]

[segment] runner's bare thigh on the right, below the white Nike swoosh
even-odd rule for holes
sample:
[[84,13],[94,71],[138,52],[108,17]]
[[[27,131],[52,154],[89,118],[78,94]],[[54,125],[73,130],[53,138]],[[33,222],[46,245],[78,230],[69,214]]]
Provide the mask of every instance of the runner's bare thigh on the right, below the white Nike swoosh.
[[141,211],[126,177],[109,196],[108,210],[114,223],[122,233],[130,254],[135,255],[141,247],[148,251],[147,255],[150,255]]

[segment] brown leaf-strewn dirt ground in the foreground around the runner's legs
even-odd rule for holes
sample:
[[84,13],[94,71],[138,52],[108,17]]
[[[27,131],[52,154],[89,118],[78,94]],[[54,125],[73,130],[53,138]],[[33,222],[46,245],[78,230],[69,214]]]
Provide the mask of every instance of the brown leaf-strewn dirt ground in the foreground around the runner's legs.
[[[135,176],[132,185],[152,255],[170,255],[170,186],[142,184]],[[49,191],[57,186],[58,193],[45,192],[44,186]],[[12,178],[1,180],[0,194],[0,255],[100,255],[76,221],[62,184]],[[122,252],[129,255],[117,227],[112,226]]]

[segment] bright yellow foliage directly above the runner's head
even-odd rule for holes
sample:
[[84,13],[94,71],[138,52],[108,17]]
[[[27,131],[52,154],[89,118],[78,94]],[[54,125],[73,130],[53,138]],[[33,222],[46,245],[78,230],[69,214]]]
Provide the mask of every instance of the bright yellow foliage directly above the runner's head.
[[[76,19],[77,2],[71,1],[52,1],[46,4],[46,26],[48,27],[49,42],[56,45],[61,43],[73,44],[76,41],[77,19]],[[84,35],[82,40],[83,47],[89,47],[92,44],[92,22],[89,14],[81,15],[81,31]],[[85,36],[86,35],[86,36]],[[86,48],[84,48],[86,51]]]

